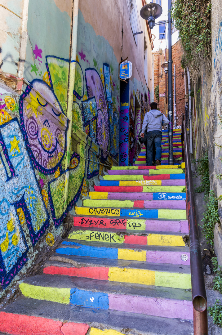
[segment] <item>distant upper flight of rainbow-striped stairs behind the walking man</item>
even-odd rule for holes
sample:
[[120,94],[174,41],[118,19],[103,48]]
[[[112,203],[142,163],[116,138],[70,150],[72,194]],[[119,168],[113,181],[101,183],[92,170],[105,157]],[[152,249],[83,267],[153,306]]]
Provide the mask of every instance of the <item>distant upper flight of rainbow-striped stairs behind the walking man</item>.
[[[162,156],[161,164],[168,164],[168,130],[163,130],[162,138]],[[145,166],[146,165],[146,149],[145,146],[142,148],[140,155],[133,164],[134,166]],[[181,129],[173,130],[173,161],[174,164],[180,164],[182,161],[182,145],[181,145]]]

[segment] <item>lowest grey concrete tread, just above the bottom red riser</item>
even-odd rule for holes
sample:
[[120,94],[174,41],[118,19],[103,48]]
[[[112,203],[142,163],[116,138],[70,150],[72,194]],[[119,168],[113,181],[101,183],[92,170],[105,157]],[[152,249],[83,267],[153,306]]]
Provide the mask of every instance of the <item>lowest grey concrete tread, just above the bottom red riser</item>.
[[130,334],[145,335],[191,335],[191,320],[168,319],[143,314],[98,310],[64,305],[46,300],[20,297],[1,311],[39,318],[49,318],[65,322],[86,323],[100,329],[129,329]]

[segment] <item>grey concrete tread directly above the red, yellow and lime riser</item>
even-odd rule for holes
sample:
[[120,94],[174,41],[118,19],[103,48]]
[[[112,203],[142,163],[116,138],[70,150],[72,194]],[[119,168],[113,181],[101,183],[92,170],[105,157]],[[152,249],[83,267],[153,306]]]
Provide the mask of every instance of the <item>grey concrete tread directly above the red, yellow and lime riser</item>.
[[[62,245],[62,249],[64,249],[64,247],[66,248],[66,247],[71,247],[71,246]],[[72,262],[72,264],[81,263],[81,264],[91,265],[91,266],[133,268],[133,269],[143,269],[143,270],[151,270],[151,271],[190,274],[190,265],[148,263],[148,262],[130,261],[130,260],[122,260],[122,259],[74,256],[74,255],[66,255],[62,253],[55,253],[50,258],[50,260],[58,260],[58,259],[62,260],[63,262],[67,262],[67,263]]]

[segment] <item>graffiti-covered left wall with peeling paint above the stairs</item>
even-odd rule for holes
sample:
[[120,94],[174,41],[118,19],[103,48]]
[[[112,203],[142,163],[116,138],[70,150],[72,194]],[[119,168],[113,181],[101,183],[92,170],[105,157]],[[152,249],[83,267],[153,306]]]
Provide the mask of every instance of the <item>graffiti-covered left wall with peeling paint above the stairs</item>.
[[[12,3],[6,1],[4,6]],[[104,166],[118,164],[122,2],[115,7],[116,21],[109,24],[107,3],[103,4],[104,8],[101,2],[86,6],[80,1],[78,16],[72,17],[72,0],[24,0],[23,8],[18,1],[7,7],[15,12],[20,6],[17,12],[24,15],[17,30],[7,23],[16,15],[0,6],[6,11],[6,23],[0,23],[4,33],[0,42],[0,297],[10,295],[16,281],[29,275],[58,243],[67,229],[67,212],[74,213],[75,204],[88,197]],[[93,19],[89,8],[95,11]],[[95,20],[99,12],[103,15]],[[132,164],[140,149],[135,142],[135,96],[142,122],[149,94],[144,36],[138,36],[136,45],[128,19],[124,17],[124,31],[130,36],[125,52],[133,63],[133,76],[127,154]],[[120,35],[119,44],[110,34],[112,27]],[[17,31],[12,38],[17,54],[7,61],[10,29]]]

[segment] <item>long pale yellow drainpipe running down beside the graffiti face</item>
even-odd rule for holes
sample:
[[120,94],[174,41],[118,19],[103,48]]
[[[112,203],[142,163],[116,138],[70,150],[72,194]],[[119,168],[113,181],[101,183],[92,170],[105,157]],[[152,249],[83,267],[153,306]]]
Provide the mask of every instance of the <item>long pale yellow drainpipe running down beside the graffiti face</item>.
[[72,25],[70,36],[70,55],[69,55],[69,80],[67,93],[67,118],[69,119],[69,128],[67,131],[67,155],[65,160],[65,192],[64,192],[64,211],[67,208],[68,188],[69,188],[69,165],[71,152],[71,137],[72,137],[72,104],[73,104],[73,90],[75,84],[75,69],[76,69],[76,54],[77,54],[77,28],[78,28],[78,12],[79,0],[73,0],[72,7]]

